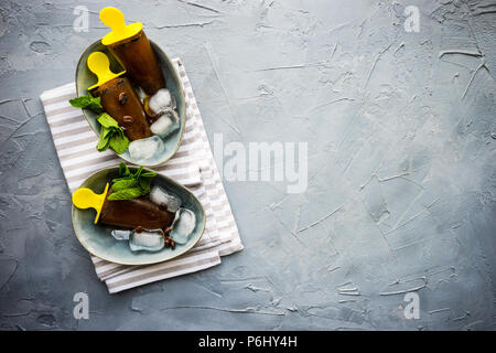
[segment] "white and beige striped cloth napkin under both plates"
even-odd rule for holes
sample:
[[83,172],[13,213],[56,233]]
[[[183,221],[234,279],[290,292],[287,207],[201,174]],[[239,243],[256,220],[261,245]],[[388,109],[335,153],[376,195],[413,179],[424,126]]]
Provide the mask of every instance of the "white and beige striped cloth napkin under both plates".
[[[198,197],[206,213],[205,232],[190,252],[161,264],[126,266],[91,255],[96,274],[106,282],[110,293],[198,271],[220,264],[220,256],[242,249],[190,79],[182,62],[175,58],[173,63],[186,95],[185,131],[182,145],[174,157],[154,170],[188,186]],[[95,149],[98,140],[96,135],[82,110],[68,104],[68,99],[75,96],[74,83],[45,90],[40,96],[71,192],[74,192],[94,171],[117,165],[121,161],[110,150],[98,152]]]

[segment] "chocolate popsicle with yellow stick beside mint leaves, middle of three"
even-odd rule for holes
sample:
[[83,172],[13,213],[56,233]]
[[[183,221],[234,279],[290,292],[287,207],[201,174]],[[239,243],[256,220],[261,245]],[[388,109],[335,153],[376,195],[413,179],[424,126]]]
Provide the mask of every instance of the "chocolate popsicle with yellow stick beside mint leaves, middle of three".
[[141,99],[131,82],[127,77],[120,77],[126,71],[114,74],[107,55],[101,52],[91,53],[87,64],[98,77],[98,83],[88,90],[100,97],[105,111],[119,124],[131,141],[150,137],[150,125]]

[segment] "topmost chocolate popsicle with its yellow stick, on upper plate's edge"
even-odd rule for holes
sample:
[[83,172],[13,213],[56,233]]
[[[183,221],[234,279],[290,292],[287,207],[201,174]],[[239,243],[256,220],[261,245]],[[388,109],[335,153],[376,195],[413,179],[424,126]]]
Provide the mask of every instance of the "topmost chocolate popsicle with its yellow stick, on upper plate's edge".
[[126,25],[122,12],[110,7],[101,9],[100,20],[111,29],[101,39],[101,44],[110,50],[131,79],[149,96],[165,88],[162,68],[143,32],[143,24],[136,22]]

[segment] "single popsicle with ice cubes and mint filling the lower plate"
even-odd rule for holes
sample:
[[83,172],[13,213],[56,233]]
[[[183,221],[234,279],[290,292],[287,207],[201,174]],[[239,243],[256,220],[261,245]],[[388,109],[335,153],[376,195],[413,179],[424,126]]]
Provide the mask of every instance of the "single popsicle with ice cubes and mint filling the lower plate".
[[95,208],[95,224],[110,227],[109,236],[128,240],[132,252],[159,252],[185,244],[195,229],[196,216],[181,207],[182,200],[159,185],[157,174],[140,167],[136,172],[121,163],[119,178],[101,194],[80,188],[73,194],[77,208]]

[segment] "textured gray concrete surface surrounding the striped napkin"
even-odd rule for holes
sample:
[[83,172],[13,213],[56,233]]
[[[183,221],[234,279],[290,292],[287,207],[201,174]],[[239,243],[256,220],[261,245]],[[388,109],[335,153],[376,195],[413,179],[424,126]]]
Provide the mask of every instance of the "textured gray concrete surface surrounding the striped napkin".
[[211,141],[306,141],[309,188],[225,182],[244,252],[108,295],[37,99],[107,32],[104,3],[1,0],[0,329],[495,329],[495,1],[108,4],[183,60]]

